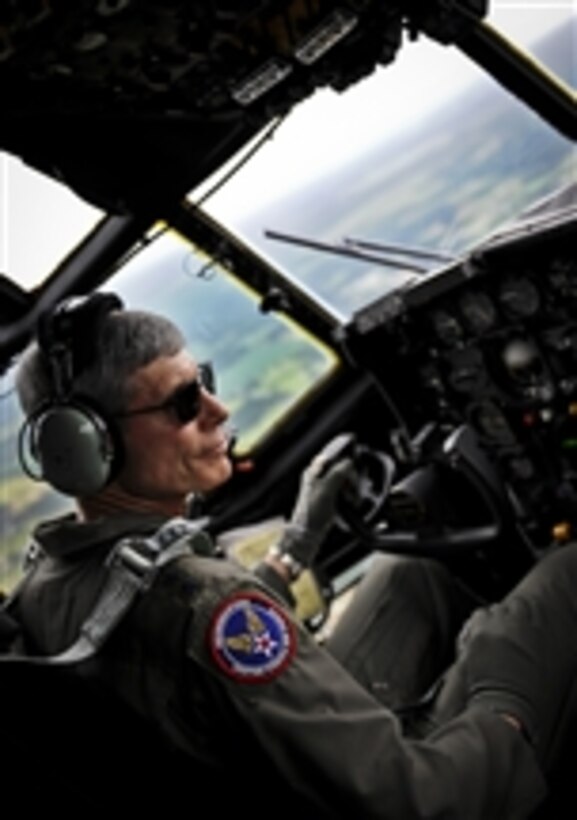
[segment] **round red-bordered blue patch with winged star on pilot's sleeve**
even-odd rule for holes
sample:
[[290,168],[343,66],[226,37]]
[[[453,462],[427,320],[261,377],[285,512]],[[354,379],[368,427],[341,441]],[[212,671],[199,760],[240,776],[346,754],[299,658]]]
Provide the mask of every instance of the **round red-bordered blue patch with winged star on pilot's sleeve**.
[[258,592],[240,592],[216,611],[208,632],[218,667],[233,680],[264,683],[278,677],[296,651],[288,615]]

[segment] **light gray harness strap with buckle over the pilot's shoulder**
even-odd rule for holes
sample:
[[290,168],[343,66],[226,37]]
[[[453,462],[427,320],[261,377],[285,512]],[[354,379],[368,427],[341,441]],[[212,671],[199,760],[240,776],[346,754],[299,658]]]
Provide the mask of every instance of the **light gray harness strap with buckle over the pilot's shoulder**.
[[118,541],[106,562],[104,588],[74,643],[57,655],[3,654],[0,663],[66,666],[96,655],[163,566],[183,555],[214,553],[210,536],[203,531],[207,520],[173,518],[153,535]]

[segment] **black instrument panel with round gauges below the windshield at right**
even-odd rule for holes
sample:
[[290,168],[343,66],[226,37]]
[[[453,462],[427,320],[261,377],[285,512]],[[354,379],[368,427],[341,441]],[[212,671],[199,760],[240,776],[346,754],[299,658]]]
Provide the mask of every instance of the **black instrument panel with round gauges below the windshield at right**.
[[[353,354],[413,435],[462,424],[537,550],[577,535],[575,212],[526,225],[357,315]],[[383,317],[386,316],[386,319]]]

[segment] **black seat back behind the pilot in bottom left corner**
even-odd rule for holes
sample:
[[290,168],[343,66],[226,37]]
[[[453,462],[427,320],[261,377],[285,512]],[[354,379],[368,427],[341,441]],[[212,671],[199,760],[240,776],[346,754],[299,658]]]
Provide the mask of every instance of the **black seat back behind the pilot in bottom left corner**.
[[182,810],[192,761],[118,699],[68,669],[0,660],[0,679],[2,780],[27,812]]

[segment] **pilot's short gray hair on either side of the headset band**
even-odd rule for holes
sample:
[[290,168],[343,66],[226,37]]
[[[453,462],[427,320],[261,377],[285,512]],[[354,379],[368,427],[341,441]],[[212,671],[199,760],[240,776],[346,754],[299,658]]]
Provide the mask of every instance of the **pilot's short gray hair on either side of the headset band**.
[[[128,407],[132,374],[160,356],[176,355],[186,341],[176,325],[164,316],[138,310],[114,310],[99,323],[91,345],[91,362],[74,374],[72,392],[92,400],[99,409],[113,415]],[[16,387],[27,416],[53,397],[49,363],[36,343],[22,358]]]

